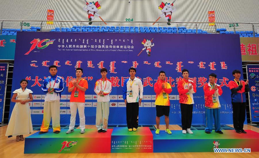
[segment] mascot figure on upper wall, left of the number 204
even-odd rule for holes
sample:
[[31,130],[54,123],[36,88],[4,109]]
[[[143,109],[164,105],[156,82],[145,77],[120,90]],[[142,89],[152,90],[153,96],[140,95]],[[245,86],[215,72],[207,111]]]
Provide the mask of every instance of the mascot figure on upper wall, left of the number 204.
[[[92,21],[93,19],[95,19],[94,17],[95,15],[98,16],[103,21],[101,16],[97,13],[98,10],[101,9],[101,5],[98,3],[98,1],[96,1],[95,3],[94,2],[88,3],[85,0],[85,2],[86,2],[86,6],[84,6],[83,9],[87,12],[89,21]],[[92,23],[93,22],[89,22],[89,25],[91,25]],[[107,23],[105,23],[105,25],[107,25]]]

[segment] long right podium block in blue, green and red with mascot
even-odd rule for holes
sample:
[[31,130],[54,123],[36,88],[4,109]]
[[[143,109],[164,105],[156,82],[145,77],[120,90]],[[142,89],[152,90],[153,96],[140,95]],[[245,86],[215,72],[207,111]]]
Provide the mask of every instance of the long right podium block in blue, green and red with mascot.
[[238,134],[235,130],[222,132],[207,134],[203,130],[195,130],[193,134],[183,134],[182,131],[172,131],[169,135],[160,131],[157,135],[152,131],[154,153],[214,152],[217,143],[218,148],[251,148],[253,152],[259,151],[259,133],[251,130],[246,130],[247,134]]

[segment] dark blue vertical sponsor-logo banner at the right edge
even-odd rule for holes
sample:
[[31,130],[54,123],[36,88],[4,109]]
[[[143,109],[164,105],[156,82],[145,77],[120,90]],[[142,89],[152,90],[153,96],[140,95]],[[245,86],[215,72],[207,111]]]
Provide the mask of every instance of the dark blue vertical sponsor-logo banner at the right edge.
[[246,65],[251,122],[259,122],[259,65]]

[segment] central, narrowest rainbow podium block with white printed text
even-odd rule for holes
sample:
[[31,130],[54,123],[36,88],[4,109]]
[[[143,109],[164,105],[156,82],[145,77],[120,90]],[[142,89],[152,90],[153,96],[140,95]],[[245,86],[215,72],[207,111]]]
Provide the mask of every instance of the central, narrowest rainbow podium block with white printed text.
[[112,153],[152,153],[153,135],[149,127],[128,131],[127,127],[115,127],[111,137]]

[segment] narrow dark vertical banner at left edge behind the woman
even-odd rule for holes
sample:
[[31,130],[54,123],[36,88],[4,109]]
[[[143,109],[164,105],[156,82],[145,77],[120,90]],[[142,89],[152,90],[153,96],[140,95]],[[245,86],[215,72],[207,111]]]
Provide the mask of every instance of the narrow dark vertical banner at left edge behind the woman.
[[7,67],[8,67],[8,63],[0,63],[0,123],[2,123],[2,118],[3,118]]

